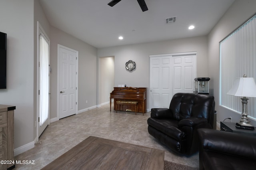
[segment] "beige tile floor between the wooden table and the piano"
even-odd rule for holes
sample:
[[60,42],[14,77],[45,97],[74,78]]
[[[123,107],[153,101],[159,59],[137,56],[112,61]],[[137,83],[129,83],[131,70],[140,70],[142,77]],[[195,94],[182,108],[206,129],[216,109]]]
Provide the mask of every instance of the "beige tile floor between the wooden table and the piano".
[[[112,107],[113,108],[113,107]],[[180,156],[148,134],[150,112],[112,111],[109,105],[50,123],[35,147],[15,156],[15,160],[34,160],[34,164],[16,164],[14,170],[39,170],[86,139],[96,136],[165,151],[164,160],[199,169],[199,154]]]

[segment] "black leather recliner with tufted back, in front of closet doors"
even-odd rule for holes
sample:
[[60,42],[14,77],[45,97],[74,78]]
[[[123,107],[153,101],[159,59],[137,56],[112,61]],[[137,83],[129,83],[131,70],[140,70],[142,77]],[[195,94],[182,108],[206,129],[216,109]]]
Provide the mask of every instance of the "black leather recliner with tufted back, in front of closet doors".
[[174,152],[198,151],[198,128],[212,128],[215,102],[210,95],[176,93],[170,107],[151,109],[148,132]]

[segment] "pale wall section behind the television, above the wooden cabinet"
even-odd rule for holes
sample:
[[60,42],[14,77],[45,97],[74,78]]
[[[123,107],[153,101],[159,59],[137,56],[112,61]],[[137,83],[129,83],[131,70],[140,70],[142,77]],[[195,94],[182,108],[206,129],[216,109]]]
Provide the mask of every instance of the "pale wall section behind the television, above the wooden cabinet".
[[0,32],[7,33],[7,89],[0,104],[14,105],[14,148],[34,141],[34,0],[1,0]]

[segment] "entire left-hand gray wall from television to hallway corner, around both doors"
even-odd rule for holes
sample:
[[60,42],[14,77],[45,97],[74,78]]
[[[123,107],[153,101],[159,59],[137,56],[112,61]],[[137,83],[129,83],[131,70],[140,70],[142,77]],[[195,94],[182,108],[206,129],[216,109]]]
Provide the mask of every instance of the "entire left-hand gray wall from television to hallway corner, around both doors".
[[15,149],[31,147],[36,139],[37,21],[50,38],[50,119],[57,115],[57,44],[79,52],[78,111],[96,106],[97,49],[51,27],[39,0],[1,0],[0,32],[7,33],[7,89],[0,89],[0,104],[16,106]]

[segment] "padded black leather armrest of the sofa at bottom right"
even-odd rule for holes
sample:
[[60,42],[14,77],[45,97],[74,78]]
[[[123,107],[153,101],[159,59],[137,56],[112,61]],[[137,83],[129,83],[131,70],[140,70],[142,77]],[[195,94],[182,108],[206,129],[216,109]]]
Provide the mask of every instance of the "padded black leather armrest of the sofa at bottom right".
[[219,152],[256,160],[256,137],[200,128],[198,135],[205,151]]

